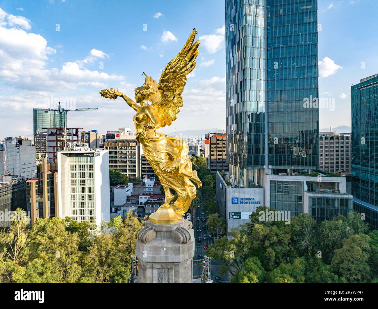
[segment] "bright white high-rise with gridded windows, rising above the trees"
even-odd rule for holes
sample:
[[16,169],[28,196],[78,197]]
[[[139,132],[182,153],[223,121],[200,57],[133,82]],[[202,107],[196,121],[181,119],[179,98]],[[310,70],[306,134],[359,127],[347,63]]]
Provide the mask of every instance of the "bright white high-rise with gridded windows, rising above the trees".
[[59,216],[97,227],[110,219],[109,151],[57,152]]

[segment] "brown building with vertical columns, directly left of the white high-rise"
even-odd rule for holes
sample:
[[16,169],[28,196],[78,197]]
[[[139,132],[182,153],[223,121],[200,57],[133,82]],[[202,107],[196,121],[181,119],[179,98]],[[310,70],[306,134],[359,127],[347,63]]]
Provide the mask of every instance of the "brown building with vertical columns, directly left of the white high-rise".
[[53,218],[59,214],[57,183],[57,163],[48,163],[47,158],[43,158],[37,178],[26,181],[26,207],[32,224],[38,218]]

